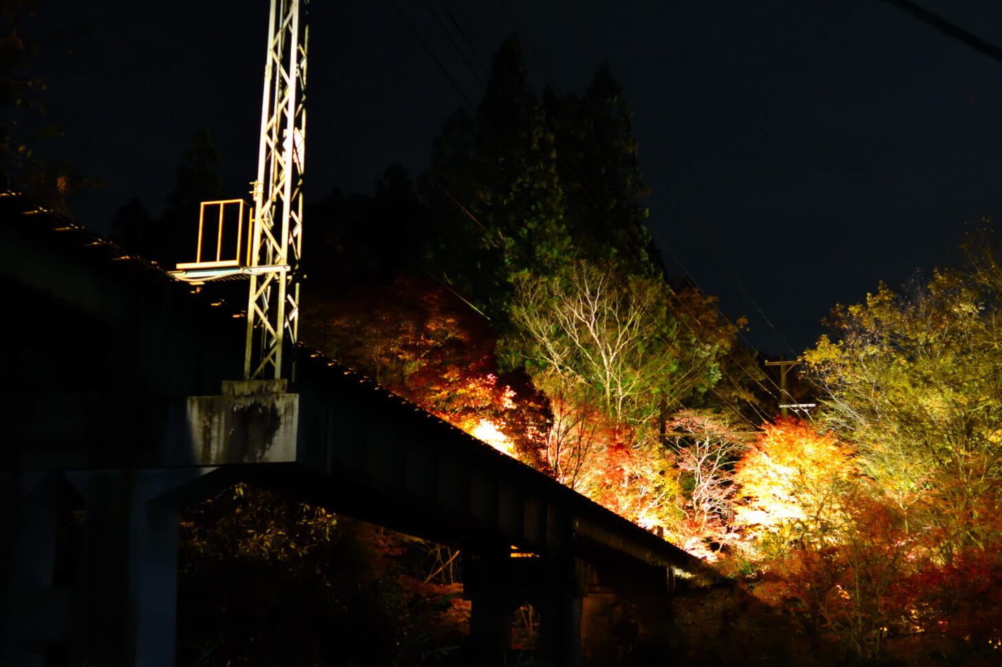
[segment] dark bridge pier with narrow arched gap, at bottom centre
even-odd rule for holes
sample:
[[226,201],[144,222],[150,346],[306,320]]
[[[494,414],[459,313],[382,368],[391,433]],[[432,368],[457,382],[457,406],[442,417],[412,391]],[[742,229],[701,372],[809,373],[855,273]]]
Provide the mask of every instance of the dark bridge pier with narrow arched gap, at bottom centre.
[[587,564],[575,559],[505,555],[464,561],[463,591],[472,603],[470,664],[505,663],[512,614],[529,602],[540,617],[536,652],[555,667],[578,667],[587,581]]

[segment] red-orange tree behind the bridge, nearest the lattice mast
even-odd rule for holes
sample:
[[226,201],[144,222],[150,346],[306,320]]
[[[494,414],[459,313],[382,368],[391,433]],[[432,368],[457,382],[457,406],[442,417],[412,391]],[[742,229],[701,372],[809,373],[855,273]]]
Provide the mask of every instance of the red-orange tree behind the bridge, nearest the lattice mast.
[[[309,302],[309,301],[308,301]],[[499,375],[495,335],[429,279],[356,285],[315,299],[304,340],[428,412],[546,470],[545,400],[524,374]]]

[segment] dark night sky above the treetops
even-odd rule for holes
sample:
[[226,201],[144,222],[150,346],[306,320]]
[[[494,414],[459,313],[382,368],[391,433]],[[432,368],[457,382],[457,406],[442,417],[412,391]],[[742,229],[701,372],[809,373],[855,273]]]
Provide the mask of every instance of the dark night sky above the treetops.
[[[59,8],[48,18],[92,30],[42,63],[65,131],[54,149],[104,181],[76,202],[81,223],[106,232],[130,196],[159,212],[199,128],[232,195],[245,193],[266,0],[51,1],[39,0]],[[1002,3],[921,4],[1002,44]],[[335,185],[369,192],[391,162],[419,174],[516,31],[539,90],[582,92],[609,62],[634,111],[669,269],[681,271],[677,259],[728,314],[746,315],[761,350],[801,353],[835,302],[943,262],[966,220],[1002,217],[1002,63],[882,0],[397,6],[313,1],[310,199]]]

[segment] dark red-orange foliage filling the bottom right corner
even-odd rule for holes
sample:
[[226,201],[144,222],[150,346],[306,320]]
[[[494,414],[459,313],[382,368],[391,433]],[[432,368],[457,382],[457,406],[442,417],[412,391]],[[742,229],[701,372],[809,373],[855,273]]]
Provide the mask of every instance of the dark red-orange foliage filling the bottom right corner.
[[927,528],[921,503],[902,509],[876,485],[858,480],[832,503],[825,539],[804,540],[761,562],[752,591],[794,612],[857,660],[893,653],[922,665],[937,654],[948,657],[943,664],[998,664],[1002,514],[991,499],[997,494],[993,490],[955,522],[995,527],[996,540],[943,552],[944,535]]

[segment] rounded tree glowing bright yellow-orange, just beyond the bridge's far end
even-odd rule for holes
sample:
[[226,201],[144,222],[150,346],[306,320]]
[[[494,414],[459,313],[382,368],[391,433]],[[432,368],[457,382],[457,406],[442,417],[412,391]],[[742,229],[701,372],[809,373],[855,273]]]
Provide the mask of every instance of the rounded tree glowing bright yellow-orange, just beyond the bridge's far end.
[[742,496],[735,524],[759,548],[829,543],[852,457],[850,447],[797,418],[766,425],[734,469]]

